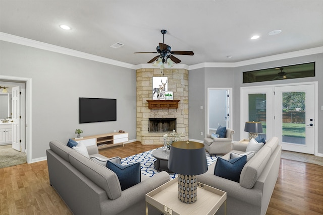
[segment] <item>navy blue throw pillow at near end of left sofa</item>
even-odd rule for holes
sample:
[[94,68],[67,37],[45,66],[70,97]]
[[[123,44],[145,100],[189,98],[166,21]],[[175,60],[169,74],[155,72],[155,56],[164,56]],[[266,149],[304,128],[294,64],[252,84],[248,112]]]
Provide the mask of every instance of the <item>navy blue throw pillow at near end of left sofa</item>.
[[123,166],[121,164],[107,161],[106,167],[117,174],[121,190],[128,189],[129,187],[132,187],[133,185],[136,185],[141,181],[140,163]]

